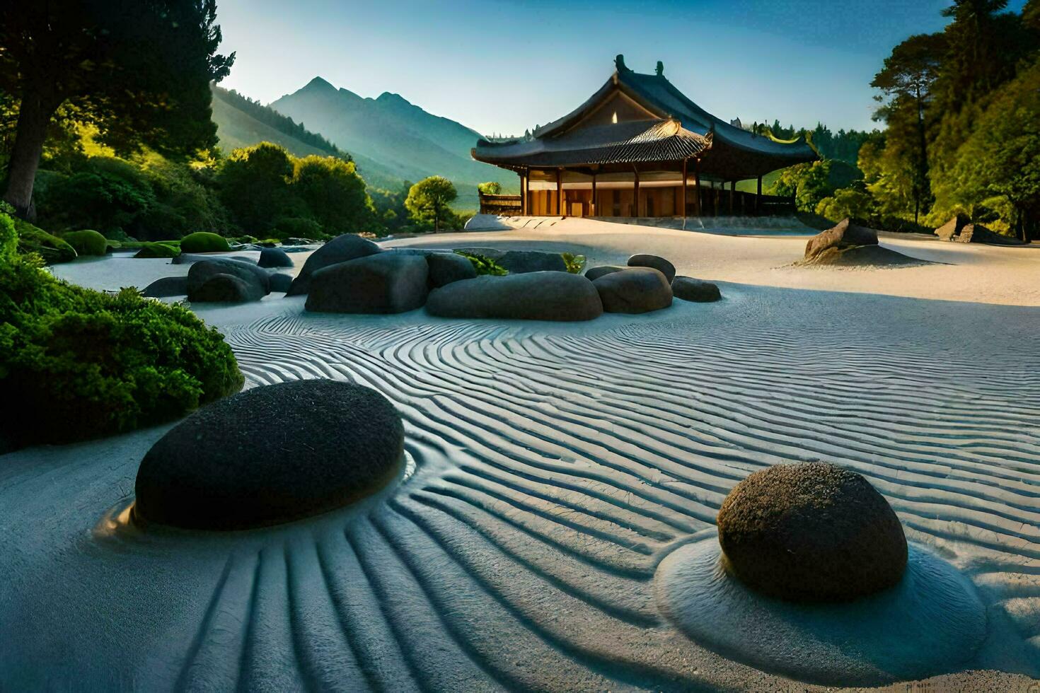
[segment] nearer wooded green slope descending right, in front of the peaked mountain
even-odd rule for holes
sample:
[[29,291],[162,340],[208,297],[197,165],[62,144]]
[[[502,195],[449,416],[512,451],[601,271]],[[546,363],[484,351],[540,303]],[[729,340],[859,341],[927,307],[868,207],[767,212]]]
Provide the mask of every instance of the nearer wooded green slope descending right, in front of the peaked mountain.
[[[267,141],[284,146],[297,157],[312,154],[326,157],[344,155],[339,148],[320,135],[301,128],[302,124],[220,87],[213,87],[213,123],[216,124],[219,146],[225,153]],[[404,177],[395,175],[379,162],[354,152],[349,154],[358,166],[358,172],[369,186],[397,190],[404,184]]]

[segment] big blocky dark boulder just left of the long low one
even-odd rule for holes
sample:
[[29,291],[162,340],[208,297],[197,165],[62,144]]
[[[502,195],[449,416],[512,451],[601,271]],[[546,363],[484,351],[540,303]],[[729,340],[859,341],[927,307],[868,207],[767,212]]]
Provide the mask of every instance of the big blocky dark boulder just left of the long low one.
[[[320,313],[405,313],[426,302],[426,260],[381,252],[314,272],[306,309]],[[293,283],[295,286],[295,283]]]

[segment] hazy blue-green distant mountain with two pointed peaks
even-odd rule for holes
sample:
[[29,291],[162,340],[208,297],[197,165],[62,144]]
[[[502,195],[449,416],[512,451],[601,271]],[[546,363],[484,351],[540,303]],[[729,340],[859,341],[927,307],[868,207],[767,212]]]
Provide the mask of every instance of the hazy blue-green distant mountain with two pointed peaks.
[[498,181],[506,191],[518,189],[515,175],[470,158],[479,133],[427,113],[396,94],[366,99],[316,77],[270,106],[395,176],[411,181],[448,178],[460,202],[472,199],[475,206],[476,184],[483,181]]

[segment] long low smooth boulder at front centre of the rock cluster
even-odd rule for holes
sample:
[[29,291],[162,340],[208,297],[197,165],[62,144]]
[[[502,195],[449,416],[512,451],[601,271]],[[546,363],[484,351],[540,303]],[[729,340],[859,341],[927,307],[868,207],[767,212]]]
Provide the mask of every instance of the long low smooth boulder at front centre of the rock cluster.
[[426,310],[445,318],[569,321],[598,318],[603,303],[580,274],[545,271],[453,282],[430,293]]

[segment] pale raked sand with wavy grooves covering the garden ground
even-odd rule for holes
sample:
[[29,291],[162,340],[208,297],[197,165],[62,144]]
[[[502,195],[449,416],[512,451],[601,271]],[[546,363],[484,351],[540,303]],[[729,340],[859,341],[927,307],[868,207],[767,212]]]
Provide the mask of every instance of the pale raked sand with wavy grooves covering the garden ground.
[[[981,644],[914,677],[1030,690],[1040,254],[886,237],[951,264],[786,267],[805,240],[572,220],[394,242],[656,252],[724,295],[580,324],[194,306],[249,387],[384,393],[417,472],[281,528],[164,533],[125,517],[167,427],[0,457],[0,690],[815,690],[687,637],[658,570],[747,474],[803,460],[866,476],[984,606]],[[119,262],[55,271],[125,286]],[[866,664],[873,683],[900,677]]]

